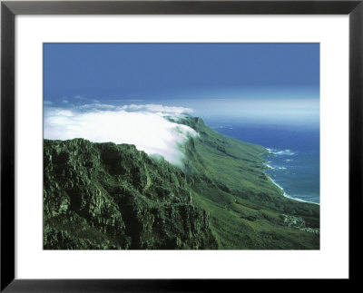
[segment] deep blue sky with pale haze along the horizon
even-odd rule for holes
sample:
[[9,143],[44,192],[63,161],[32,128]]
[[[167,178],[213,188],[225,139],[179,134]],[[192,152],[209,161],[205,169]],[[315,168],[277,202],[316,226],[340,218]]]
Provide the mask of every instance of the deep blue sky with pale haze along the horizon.
[[44,101],[319,123],[319,44],[44,44]]

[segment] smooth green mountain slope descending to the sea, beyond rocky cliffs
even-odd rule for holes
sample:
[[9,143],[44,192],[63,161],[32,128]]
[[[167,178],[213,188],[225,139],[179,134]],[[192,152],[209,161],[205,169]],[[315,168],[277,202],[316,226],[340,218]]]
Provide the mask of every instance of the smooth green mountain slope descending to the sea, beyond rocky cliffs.
[[192,202],[211,214],[220,248],[319,249],[319,205],[283,196],[263,172],[266,149],[214,132],[199,118],[180,122],[200,133],[187,162],[196,174]]

